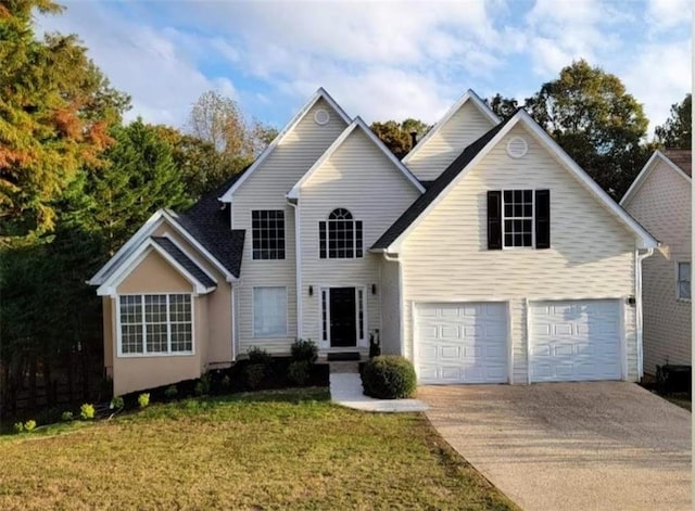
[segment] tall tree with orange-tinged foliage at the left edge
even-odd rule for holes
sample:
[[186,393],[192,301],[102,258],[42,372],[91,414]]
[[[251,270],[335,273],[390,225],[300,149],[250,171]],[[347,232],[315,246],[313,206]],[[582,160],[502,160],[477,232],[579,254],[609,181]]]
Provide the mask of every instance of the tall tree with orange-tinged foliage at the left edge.
[[74,36],[35,38],[34,10],[52,0],[0,3],[0,244],[50,231],[52,201],[85,162],[97,165],[128,98],[109,85]]

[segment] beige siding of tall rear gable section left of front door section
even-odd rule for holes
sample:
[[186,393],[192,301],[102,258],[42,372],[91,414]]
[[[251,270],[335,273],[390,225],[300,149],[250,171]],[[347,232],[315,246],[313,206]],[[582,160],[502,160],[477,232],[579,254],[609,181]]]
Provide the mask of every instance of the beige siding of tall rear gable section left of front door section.
[[[330,113],[327,125],[314,122],[314,113],[324,108]],[[296,277],[294,247],[294,210],[285,195],[312,167],[346,127],[331,106],[319,100],[287,135],[281,144],[254,170],[232,199],[232,226],[245,229],[241,282],[238,289],[240,353],[260,346],[269,353],[289,353],[296,337]],[[253,260],[251,210],[285,210],[285,260]],[[253,288],[285,286],[288,291],[288,332],[277,338],[253,336]]]

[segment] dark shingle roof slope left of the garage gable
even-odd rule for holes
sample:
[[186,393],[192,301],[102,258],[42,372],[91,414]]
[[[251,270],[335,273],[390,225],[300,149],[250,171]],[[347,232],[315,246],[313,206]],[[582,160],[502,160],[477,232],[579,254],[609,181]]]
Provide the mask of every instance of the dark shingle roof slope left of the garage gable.
[[[511,117],[509,117],[509,119]],[[440,193],[444,191],[448,183],[451,183],[454,178],[458,176],[464,168],[466,168],[478,153],[488,145],[488,142],[490,142],[494,136],[500,132],[509,119],[504,123],[500,123],[473,143],[468,145],[434,181],[429,183],[427,191],[420,195],[395,222],[393,222],[389,230],[387,230],[381,238],[371,245],[371,248],[388,248],[389,245],[391,245],[391,243],[393,243],[410,226],[410,223],[413,223],[422,214],[422,212],[427,209]]]

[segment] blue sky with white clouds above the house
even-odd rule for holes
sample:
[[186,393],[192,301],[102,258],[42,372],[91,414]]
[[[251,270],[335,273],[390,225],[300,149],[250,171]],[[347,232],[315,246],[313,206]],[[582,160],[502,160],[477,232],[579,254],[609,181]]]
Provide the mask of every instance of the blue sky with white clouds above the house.
[[434,123],[467,89],[523,100],[573,60],[617,75],[649,132],[692,89],[692,0],[68,1],[126,118],[185,128],[205,91],[278,128],[324,87],[351,117]]

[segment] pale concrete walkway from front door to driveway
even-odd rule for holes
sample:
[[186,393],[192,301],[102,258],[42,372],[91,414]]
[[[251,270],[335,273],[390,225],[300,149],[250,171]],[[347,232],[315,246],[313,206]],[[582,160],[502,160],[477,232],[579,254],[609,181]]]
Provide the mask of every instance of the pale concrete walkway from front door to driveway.
[[355,372],[330,373],[330,398],[338,405],[362,411],[400,412],[428,409],[428,406],[418,399],[375,399],[365,396],[359,374]]

